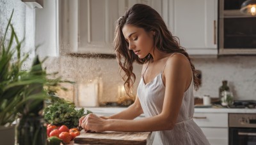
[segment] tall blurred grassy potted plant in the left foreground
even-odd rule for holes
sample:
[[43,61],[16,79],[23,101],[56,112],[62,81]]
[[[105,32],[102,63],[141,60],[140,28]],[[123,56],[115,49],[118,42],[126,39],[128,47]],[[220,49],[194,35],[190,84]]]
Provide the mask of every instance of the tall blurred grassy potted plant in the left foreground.
[[[15,34],[12,15],[0,46],[0,141],[6,145],[14,144],[13,121],[19,117],[19,144],[45,144],[47,136],[42,109],[44,100],[49,98],[45,87],[58,86],[60,78],[47,79],[49,74],[42,69],[44,60],[40,62],[38,57],[29,71],[21,70],[28,54],[20,55],[23,41],[19,41]],[[11,34],[6,39],[8,30]]]

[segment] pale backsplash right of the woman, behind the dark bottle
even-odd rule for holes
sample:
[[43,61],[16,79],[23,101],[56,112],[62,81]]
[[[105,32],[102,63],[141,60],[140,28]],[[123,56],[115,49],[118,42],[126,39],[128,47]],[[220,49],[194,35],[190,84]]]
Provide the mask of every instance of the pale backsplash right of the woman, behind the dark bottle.
[[226,79],[235,99],[256,100],[256,56],[193,59],[196,69],[202,71],[202,87],[195,96],[218,96],[221,81]]

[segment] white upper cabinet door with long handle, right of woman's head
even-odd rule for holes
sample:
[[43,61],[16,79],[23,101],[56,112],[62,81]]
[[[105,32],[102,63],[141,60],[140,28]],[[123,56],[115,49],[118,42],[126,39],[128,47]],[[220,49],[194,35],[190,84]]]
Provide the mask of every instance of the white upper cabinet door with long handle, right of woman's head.
[[170,0],[169,29],[190,54],[217,54],[216,0]]

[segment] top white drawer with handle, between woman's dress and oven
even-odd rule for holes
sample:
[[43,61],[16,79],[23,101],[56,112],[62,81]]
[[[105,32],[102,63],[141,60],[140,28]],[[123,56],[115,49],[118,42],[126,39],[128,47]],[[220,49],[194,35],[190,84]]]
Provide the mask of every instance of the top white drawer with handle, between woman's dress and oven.
[[194,113],[199,127],[228,127],[228,113]]

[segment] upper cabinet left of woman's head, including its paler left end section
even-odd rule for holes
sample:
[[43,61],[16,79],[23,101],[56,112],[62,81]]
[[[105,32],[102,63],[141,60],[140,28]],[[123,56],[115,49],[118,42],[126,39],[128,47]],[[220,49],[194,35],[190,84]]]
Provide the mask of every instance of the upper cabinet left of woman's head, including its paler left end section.
[[113,54],[116,21],[136,3],[162,13],[164,0],[74,0],[60,2],[62,52]]

